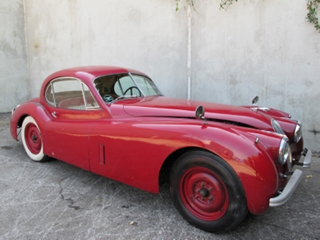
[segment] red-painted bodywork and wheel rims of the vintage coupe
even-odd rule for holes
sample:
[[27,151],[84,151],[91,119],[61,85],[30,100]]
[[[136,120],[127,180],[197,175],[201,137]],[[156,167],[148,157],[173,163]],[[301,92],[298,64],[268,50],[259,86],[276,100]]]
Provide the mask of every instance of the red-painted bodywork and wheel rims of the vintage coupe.
[[[42,139],[43,151],[48,156],[153,193],[159,191],[159,172],[170,154],[180,149],[203,149],[220,156],[235,170],[243,184],[250,212],[258,214],[268,208],[269,199],[283,185],[276,165],[282,137],[273,133],[271,118],[279,119],[291,139],[291,147],[300,157],[303,140],[292,143],[295,121],[274,109],[255,112],[249,107],[163,96],[104,103],[93,85],[94,79],[128,72],[144,75],[117,67],[74,68],[50,75],[42,85],[40,97],[13,113],[11,135],[17,139],[17,127],[30,115],[42,134],[38,136],[33,126],[28,127],[28,142],[34,153],[39,148],[34,139]],[[48,105],[44,97],[46,86],[59,77],[81,80],[100,108],[72,110]],[[195,119],[195,108],[199,105],[205,108],[207,125]],[[239,126],[230,124],[235,122]],[[256,137],[260,139],[259,144],[255,143]],[[213,172],[210,174],[215,176]],[[216,210],[216,206],[225,209],[224,202],[228,201],[224,183],[214,177],[206,183],[217,190],[216,205],[205,206],[202,201],[191,203],[187,196],[196,196],[194,185],[199,176],[207,176],[206,170],[195,167],[185,174],[180,188],[187,194],[184,204],[200,219],[217,219],[224,210]],[[214,209],[214,213],[207,214],[207,207]]]

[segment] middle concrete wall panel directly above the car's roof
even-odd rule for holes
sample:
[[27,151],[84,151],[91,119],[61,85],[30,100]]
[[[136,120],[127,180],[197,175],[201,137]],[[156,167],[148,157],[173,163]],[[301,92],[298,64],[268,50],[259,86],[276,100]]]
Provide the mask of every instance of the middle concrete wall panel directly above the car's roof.
[[25,1],[31,93],[62,68],[134,68],[186,97],[186,16],[172,0]]

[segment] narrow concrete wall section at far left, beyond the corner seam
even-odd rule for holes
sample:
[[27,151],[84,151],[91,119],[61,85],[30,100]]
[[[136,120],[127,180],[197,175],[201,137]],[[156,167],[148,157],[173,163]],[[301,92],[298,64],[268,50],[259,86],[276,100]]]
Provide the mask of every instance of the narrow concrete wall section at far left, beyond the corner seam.
[[29,98],[23,0],[0,1],[0,112]]

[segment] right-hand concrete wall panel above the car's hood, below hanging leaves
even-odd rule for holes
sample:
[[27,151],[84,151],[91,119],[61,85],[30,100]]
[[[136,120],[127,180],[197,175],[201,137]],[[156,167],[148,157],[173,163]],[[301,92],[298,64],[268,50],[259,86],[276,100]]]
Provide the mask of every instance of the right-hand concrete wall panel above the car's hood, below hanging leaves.
[[192,98],[287,111],[303,123],[307,147],[320,150],[320,33],[305,1],[239,1],[220,11],[196,1]]

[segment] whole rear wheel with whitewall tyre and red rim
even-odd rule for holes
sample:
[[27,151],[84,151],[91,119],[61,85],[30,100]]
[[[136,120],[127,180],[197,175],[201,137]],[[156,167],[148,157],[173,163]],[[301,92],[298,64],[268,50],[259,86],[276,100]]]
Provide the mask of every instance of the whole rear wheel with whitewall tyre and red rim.
[[26,117],[21,128],[22,144],[28,156],[37,162],[47,160],[48,156],[43,153],[41,132],[34,118]]

